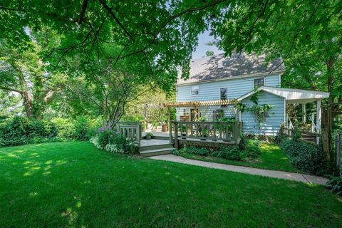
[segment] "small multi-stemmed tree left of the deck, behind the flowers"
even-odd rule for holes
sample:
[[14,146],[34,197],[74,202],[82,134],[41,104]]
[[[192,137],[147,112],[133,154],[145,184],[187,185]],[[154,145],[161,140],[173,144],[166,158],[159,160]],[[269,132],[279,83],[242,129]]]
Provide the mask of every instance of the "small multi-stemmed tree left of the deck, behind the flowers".
[[110,60],[103,58],[93,64],[93,71],[88,75],[72,78],[65,93],[73,108],[83,112],[79,114],[101,115],[113,128],[126,113],[128,105],[152,85],[152,82],[140,81],[140,76],[131,75],[125,69],[113,68]]

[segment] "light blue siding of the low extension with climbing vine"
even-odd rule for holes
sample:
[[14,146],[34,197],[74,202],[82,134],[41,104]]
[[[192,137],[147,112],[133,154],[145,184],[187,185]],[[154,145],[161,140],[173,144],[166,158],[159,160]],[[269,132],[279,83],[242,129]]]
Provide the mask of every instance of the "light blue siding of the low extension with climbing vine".
[[[245,98],[241,103],[249,107],[254,105],[249,98]],[[279,133],[280,125],[284,122],[284,98],[262,91],[259,94],[258,105],[264,104],[270,104],[273,107],[269,110],[269,117],[264,123],[261,123],[260,129],[252,113],[244,112],[241,114],[242,133],[251,135],[276,135]]]

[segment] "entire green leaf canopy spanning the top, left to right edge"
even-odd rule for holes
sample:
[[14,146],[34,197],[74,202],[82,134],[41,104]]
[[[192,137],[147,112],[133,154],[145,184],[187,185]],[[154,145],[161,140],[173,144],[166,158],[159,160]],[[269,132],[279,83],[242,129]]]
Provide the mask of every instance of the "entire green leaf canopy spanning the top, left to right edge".
[[[244,50],[267,61],[281,57],[286,86],[331,93],[323,104],[328,151],[333,118],[342,113],[341,12],[338,0],[4,0],[0,45],[21,55],[39,46],[31,65],[48,63],[44,70],[56,75],[94,83],[109,63],[135,85],[170,92],[180,68],[189,76],[198,35],[209,30],[227,55]],[[16,83],[9,77],[15,64],[1,58],[11,70],[6,83]]]

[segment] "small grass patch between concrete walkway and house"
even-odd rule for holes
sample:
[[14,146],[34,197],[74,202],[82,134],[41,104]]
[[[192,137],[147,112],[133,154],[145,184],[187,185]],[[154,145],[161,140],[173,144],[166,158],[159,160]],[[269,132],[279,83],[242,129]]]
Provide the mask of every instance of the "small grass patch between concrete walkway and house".
[[275,144],[267,144],[261,143],[260,145],[260,157],[257,160],[252,161],[233,161],[227,160],[219,157],[210,157],[210,156],[200,156],[200,155],[192,155],[192,154],[182,154],[182,157],[202,160],[206,162],[217,162],[228,165],[241,165],[248,167],[256,167],[265,170],[281,170],[288,172],[301,172],[300,170],[293,167],[289,162],[289,157],[283,152],[278,145]]

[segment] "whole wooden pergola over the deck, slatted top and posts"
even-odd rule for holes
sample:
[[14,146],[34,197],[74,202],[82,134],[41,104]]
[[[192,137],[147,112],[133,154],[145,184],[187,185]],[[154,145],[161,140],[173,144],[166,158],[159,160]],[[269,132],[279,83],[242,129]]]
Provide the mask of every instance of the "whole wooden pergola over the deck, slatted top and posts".
[[195,114],[195,121],[197,120],[197,107],[200,106],[215,106],[215,105],[234,105],[237,103],[237,99],[229,100],[202,100],[202,101],[181,101],[172,103],[147,103],[144,105],[144,114],[147,108],[167,108],[167,124],[170,128],[170,107],[193,107]]

